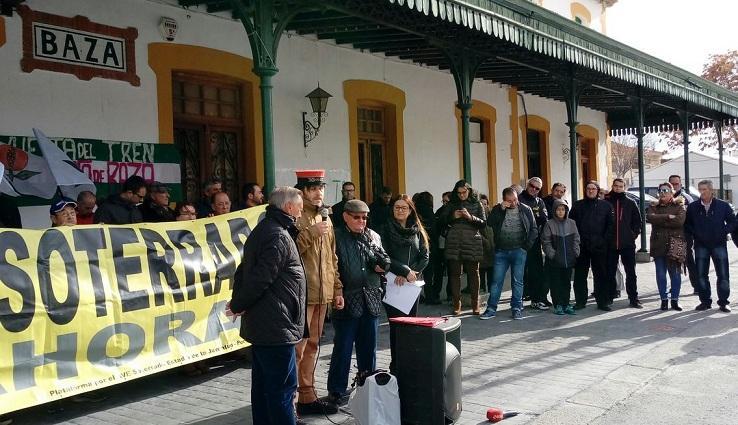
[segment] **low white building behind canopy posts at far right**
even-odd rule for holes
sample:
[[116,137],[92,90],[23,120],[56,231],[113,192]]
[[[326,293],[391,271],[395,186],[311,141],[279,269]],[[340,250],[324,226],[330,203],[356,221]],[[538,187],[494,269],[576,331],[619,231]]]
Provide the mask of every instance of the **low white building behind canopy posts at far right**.
[[[712,180],[715,190],[719,188],[718,156],[712,153],[689,153],[689,185],[697,187],[700,180]],[[669,179],[669,176],[678,174],[684,177],[684,154],[664,162],[663,164],[646,170],[644,174],[645,187],[658,186]],[[738,191],[738,158],[725,155],[723,157],[723,175],[725,185],[725,199],[733,202],[733,193]],[[638,173],[634,173],[634,182],[638,182]],[[683,182],[686,186],[686,182]],[[634,185],[637,185],[635,183]]]

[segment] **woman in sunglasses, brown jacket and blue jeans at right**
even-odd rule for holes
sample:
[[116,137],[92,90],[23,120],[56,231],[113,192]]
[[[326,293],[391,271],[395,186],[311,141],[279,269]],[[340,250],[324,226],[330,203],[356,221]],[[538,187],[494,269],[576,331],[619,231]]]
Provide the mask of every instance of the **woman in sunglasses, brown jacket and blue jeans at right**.
[[[671,308],[679,306],[679,290],[682,286],[682,269],[686,264],[687,242],[684,237],[684,199],[674,198],[674,188],[665,182],[659,185],[659,201],[646,212],[651,223],[651,257],[656,265],[656,285],[661,296],[661,310],[669,309],[666,293],[666,273],[671,280]],[[681,248],[680,248],[681,246]]]

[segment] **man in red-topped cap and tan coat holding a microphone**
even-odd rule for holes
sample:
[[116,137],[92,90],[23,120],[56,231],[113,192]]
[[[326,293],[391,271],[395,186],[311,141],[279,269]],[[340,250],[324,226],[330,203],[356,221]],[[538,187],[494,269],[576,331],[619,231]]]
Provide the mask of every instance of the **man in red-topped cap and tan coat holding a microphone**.
[[309,337],[295,350],[297,355],[297,414],[324,415],[338,411],[333,403],[319,399],[315,391],[315,362],[328,304],[343,308],[343,293],[338,277],[336,240],[328,208],[323,205],[324,170],[298,170],[295,188],[302,191],[302,216],[295,225],[297,249],[307,278],[307,322]]

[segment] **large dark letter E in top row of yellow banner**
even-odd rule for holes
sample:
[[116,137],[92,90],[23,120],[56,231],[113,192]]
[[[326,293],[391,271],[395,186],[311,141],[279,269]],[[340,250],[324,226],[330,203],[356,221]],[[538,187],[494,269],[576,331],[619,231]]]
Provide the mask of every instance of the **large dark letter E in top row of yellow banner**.
[[126,257],[123,247],[127,244],[138,244],[136,232],[126,227],[110,227],[110,249],[113,251],[113,266],[118,282],[118,293],[123,312],[149,308],[149,294],[145,289],[131,291],[128,289],[128,276],[142,272],[141,257]]

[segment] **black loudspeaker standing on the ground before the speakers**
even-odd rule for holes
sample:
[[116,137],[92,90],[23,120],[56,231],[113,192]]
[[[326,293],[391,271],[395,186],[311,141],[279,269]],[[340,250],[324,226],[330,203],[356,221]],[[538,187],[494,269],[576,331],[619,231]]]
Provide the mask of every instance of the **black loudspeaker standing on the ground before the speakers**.
[[390,322],[403,424],[445,425],[461,415],[461,321]]

